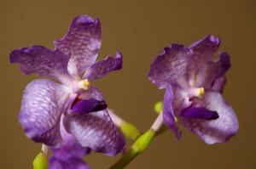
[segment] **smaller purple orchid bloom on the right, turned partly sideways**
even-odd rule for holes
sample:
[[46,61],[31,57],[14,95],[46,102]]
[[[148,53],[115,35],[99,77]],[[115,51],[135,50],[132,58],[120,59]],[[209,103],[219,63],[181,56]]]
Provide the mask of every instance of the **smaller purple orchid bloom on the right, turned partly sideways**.
[[234,110],[221,95],[230,55],[218,52],[212,59],[218,46],[219,38],[213,36],[188,48],[172,44],[151,65],[148,78],[166,89],[163,118],[177,138],[181,138],[177,121],[207,144],[228,141],[239,128]]

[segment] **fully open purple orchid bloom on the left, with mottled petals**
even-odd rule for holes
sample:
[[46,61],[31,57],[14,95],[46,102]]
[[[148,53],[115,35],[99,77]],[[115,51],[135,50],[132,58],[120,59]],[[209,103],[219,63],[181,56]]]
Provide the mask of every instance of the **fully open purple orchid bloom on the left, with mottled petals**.
[[96,62],[101,24],[87,15],[76,17],[54,44],[54,50],[37,45],[10,54],[10,62],[20,64],[26,75],[38,73],[61,82],[38,79],[26,86],[19,115],[26,136],[57,148],[65,147],[68,133],[81,147],[116,155],[125,140],[108,115],[102,93],[90,82],[121,69],[122,55]]

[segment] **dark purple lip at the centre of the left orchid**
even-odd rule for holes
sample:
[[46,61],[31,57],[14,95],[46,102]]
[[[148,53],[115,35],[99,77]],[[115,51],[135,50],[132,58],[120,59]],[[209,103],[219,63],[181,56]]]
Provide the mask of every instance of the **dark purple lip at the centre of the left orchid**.
[[104,100],[97,99],[82,99],[77,104],[74,104],[71,110],[73,113],[90,113],[99,110],[105,110],[108,107]]

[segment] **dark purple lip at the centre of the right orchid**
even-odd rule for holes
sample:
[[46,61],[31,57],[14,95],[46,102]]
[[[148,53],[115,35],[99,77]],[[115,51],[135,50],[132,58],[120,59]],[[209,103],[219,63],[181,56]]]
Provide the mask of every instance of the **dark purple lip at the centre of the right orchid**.
[[188,109],[181,112],[181,115],[187,118],[216,120],[218,119],[217,111],[207,110],[203,107],[191,106]]

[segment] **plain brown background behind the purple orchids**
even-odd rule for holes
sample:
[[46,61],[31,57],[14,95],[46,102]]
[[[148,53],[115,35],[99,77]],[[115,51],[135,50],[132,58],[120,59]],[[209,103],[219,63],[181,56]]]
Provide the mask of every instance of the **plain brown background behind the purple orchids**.
[[[9,64],[9,52],[32,44],[53,48],[53,40],[62,37],[78,14],[101,19],[101,59],[117,50],[124,54],[124,69],[95,83],[108,104],[141,130],[154,121],[153,104],[163,95],[147,79],[149,64],[162,48],[171,42],[189,45],[213,34],[221,37],[220,48],[231,55],[224,98],[239,117],[236,137],[228,144],[209,146],[187,130],[180,142],[166,132],[127,168],[256,168],[255,0],[1,0],[0,168],[31,168],[40,149],[17,121],[22,91],[38,76],[23,76],[17,65]],[[100,154],[86,157],[92,168],[107,168],[116,160]]]

